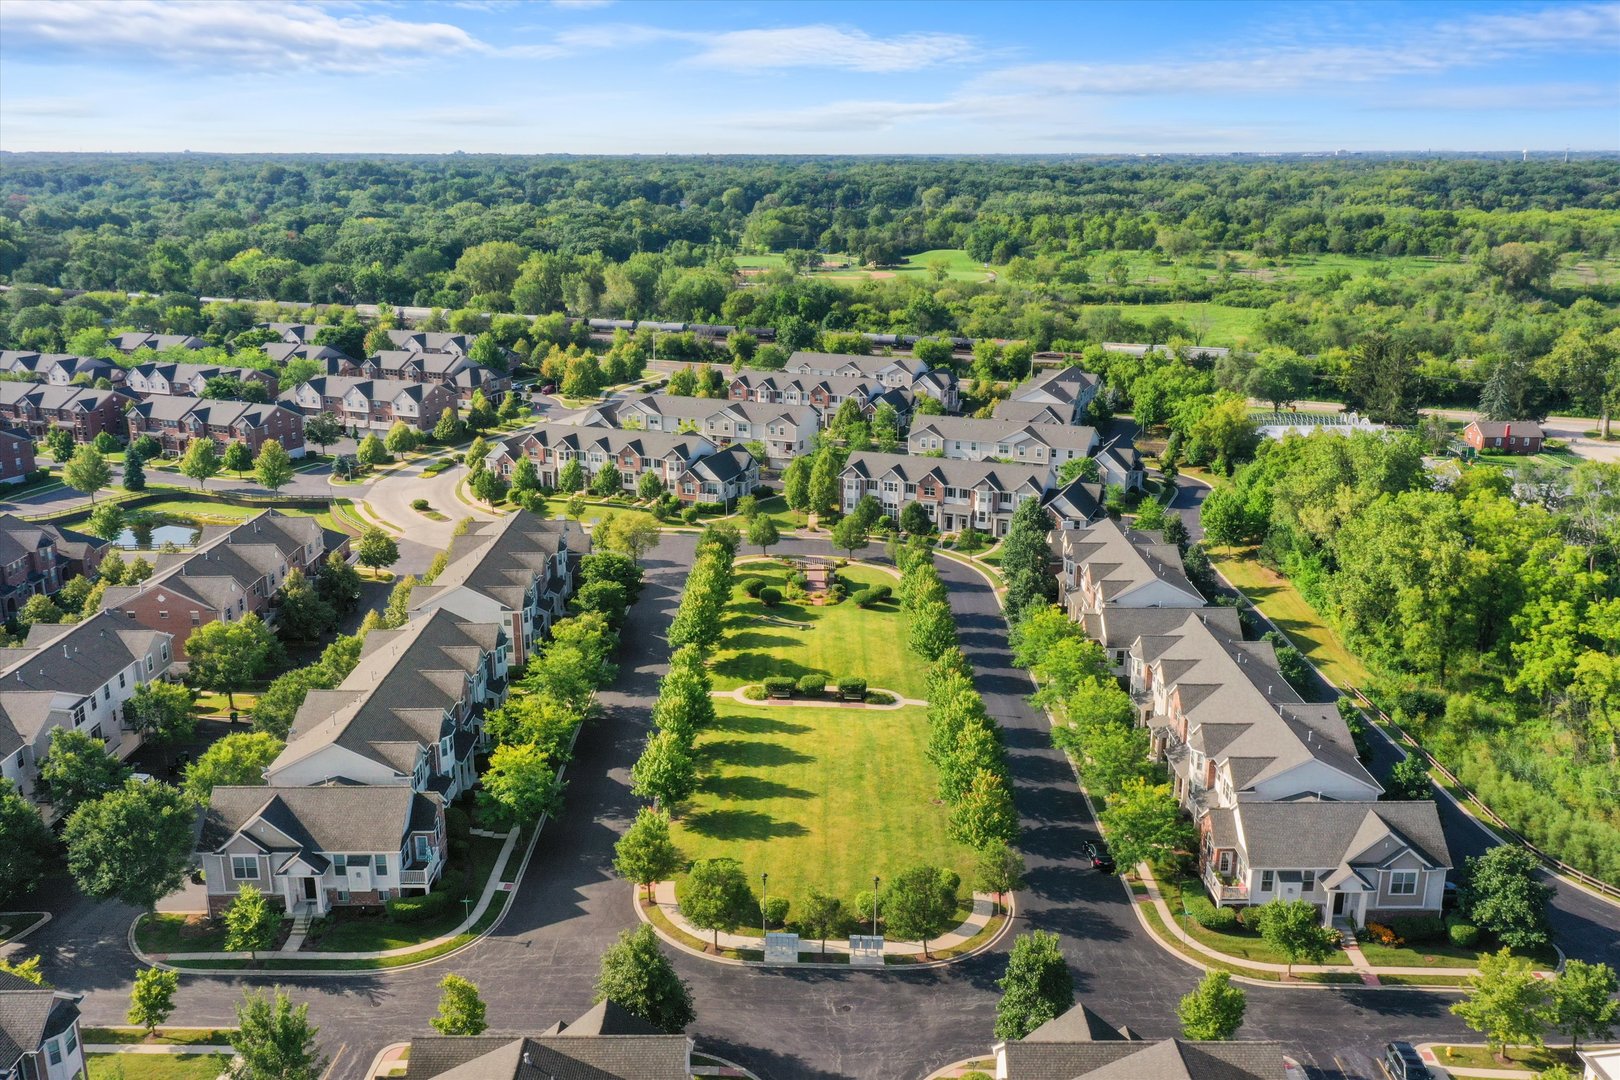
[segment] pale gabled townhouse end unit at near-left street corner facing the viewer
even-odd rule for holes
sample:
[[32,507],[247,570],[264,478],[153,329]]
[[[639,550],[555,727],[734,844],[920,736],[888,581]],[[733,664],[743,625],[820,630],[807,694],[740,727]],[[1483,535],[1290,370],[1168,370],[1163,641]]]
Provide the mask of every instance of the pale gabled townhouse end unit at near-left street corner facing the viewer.
[[243,886],[288,915],[381,907],[428,892],[447,850],[439,795],[348,784],[215,787],[198,840],[212,916]]

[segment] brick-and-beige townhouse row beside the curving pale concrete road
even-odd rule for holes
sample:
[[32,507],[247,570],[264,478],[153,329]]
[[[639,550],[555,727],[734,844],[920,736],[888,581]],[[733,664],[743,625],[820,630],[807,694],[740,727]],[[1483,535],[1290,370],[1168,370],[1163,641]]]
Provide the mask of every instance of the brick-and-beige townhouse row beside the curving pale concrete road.
[[666,491],[674,491],[687,468],[714,453],[714,449],[713,442],[695,434],[536,424],[497,442],[484,461],[510,479],[512,466],[526,457],[535,463],[543,487],[556,487],[557,474],[569,461],[578,461],[585,468],[586,483],[612,463],[619,468],[625,491],[635,491],[645,473],[653,473]]

